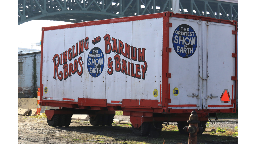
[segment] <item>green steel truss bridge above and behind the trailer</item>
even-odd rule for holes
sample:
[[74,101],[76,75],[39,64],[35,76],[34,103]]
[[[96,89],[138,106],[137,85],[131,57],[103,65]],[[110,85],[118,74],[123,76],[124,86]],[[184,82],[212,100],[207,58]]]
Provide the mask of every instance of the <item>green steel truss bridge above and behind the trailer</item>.
[[[78,23],[172,11],[172,7],[172,0],[18,0],[18,25],[31,20]],[[182,14],[238,21],[238,0],[179,0],[178,7]]]

